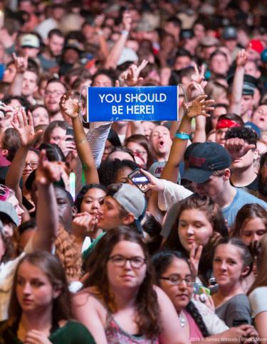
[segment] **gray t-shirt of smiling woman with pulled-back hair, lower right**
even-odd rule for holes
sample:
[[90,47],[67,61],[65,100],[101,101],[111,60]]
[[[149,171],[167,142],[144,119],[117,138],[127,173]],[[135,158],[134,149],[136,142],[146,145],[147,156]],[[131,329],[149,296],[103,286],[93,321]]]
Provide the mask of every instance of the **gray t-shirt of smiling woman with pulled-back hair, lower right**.
[[233,296],[226,303],[215,309],[215,313],[227,326],[251,324],[251,307],[246,294]]

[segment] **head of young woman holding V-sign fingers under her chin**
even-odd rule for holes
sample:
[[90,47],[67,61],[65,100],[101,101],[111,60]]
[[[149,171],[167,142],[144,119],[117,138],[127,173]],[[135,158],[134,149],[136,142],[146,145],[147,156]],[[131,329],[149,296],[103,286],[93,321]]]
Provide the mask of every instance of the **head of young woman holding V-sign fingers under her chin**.
[[194,274],[199,272],[201,281],[208,285],[215,242],[226,235],[227,228],[219,205],[208,196],[192,195],[182,200],[164,247],[194,258],[194,262],[191,261],[194,264]]

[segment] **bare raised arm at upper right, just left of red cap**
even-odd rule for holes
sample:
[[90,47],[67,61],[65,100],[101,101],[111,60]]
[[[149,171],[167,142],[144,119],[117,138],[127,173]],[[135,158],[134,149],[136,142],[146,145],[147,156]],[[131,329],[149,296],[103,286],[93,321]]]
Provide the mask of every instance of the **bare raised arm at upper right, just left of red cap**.
[[236,70],[234,72],[233,89],[231,90],[229,112],[241,114],[242,89],[245,75],[245,65],[248,53],[242,49],[236,56]]

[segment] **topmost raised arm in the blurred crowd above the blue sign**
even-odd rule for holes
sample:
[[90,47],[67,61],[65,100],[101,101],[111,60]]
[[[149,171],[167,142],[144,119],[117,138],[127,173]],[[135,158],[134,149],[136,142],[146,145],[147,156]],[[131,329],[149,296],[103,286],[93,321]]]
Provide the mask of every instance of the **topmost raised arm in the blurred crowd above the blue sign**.
[[125,43],[131,29],[131,24],[132,17],[130,16],[129,12],[125,11],[122,16],[122,34],[120,35],[120,38],[117,40],[117,42],[112,46],[105,62],[105,68],[117,67],[117,61],[120,59],[122,49],[125,47]]

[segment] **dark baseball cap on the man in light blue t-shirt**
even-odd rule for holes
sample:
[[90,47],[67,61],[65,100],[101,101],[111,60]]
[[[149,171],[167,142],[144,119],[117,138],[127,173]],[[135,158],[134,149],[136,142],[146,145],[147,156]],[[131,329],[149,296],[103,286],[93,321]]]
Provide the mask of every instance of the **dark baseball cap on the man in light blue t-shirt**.
[[184,171],[184,179],[194,183],[204,183],[215,171],[231,165],[231,157],[221,144],[205,142],[198,144],[189,156],[189,167]]

